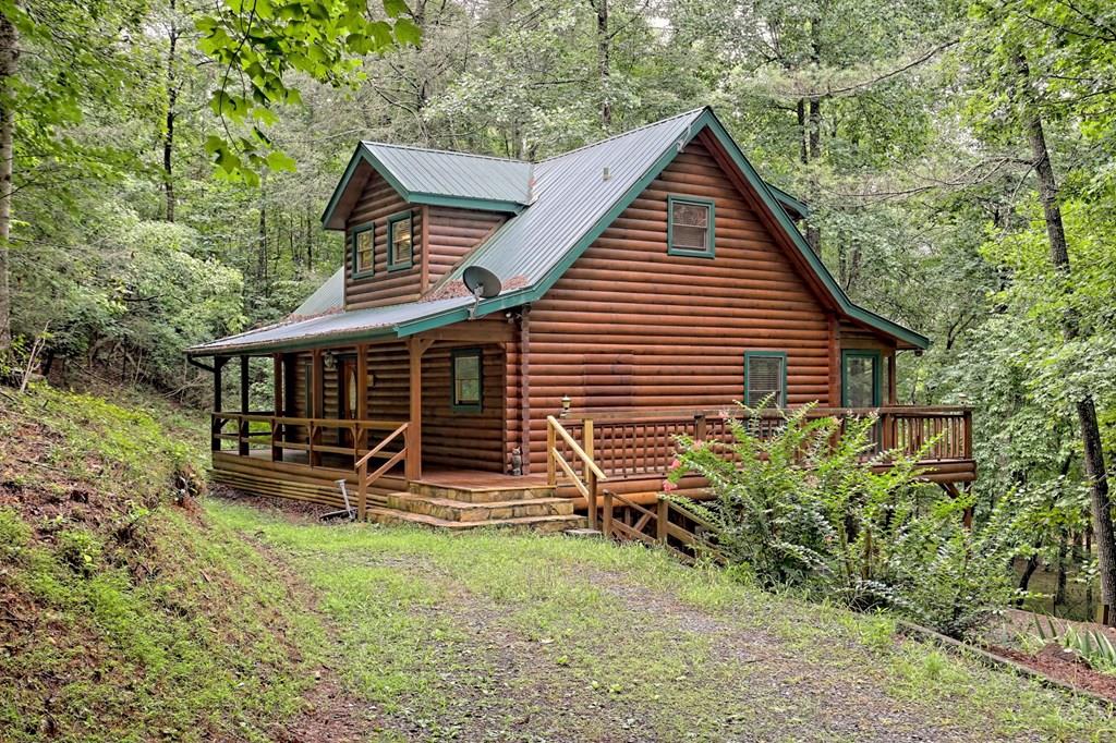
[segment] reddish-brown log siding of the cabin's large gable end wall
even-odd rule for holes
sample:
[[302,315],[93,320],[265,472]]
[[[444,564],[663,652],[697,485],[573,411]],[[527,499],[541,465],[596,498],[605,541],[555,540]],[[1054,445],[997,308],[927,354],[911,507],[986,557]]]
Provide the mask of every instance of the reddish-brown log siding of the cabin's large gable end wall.
[[[715,259],[667,254],[671,194],[715,202]],[[590,409],[731,405],[749,349],[787,351],[790,404],[836,404],[826,310],[694,142],[531,308],[532,471],[562,395]]]

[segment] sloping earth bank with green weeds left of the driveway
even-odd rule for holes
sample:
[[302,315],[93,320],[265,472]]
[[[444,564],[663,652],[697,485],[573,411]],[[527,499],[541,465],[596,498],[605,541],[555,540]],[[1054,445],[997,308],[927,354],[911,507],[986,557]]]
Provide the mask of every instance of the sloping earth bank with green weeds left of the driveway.
[[135,403],[36,385],[0,405],[0,475],[28,503],[0,509],[0,739],[270,740],[323,628],[272,561],[170,505],[204,426]]

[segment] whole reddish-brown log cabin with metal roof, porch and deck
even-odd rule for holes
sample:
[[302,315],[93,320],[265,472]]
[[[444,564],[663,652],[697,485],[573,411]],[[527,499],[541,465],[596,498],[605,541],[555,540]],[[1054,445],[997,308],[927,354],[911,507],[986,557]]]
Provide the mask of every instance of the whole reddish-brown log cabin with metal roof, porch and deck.
[[970,412],[897,403],[899,351],[929,341],[849,299],[807,211],[710,108],[539,162],[362,142],[323,215],[344,266],[283,322],[187,350],[213,479],[384,522],[595,527],[602,498],[662,500],[675,435],[766,401],[875,413],[881,447],[964,488]]

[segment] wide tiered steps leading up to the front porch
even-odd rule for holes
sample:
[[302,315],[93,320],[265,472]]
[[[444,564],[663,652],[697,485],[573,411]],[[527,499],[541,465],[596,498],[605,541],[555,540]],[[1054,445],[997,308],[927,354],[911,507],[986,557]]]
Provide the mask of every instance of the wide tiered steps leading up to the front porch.
[[532,529],[545,533],[580,529],[585,518],[574,514],[574,502],[555,498],[554,488],[465,488],[411,483],[410,492],[389,493],[382,505],[368,509],[378,523],[413,523],[462,530],[481,527]]

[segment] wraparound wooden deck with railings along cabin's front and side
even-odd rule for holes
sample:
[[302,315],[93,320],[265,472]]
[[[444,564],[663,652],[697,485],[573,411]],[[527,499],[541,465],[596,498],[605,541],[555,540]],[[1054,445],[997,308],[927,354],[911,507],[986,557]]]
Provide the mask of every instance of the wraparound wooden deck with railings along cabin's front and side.
[[[968,408],[814,408],[810,415],[840,419],[875,415],[875,450],[921,455],[922,480],[950,489],[977,477]],[[213,481],[334,508],[344,505],[338,481],[345,482],[350,499],[369,508],[385,506],[389,495],[406,492],[441,490],[465,498],[468,493],[551,488],[551,494],[573,499],[575,508],[586,510],[589,495],[596,493],[599,499],[605,489],[634,503],[654,503],[675,457],[675,436],[699,441],[731,436],[721,411],[594,411],[591,416],[584,413],[550,421],[548,472],[511,475],[408,462],[406,422],[214,413]],[[780,421],[778,411],[764,414],[761,435]],[[406,476],[408,464],[419,471],[417,476]],[[679,492],[702,498],[704,486],[700,477],[684,477]]]

